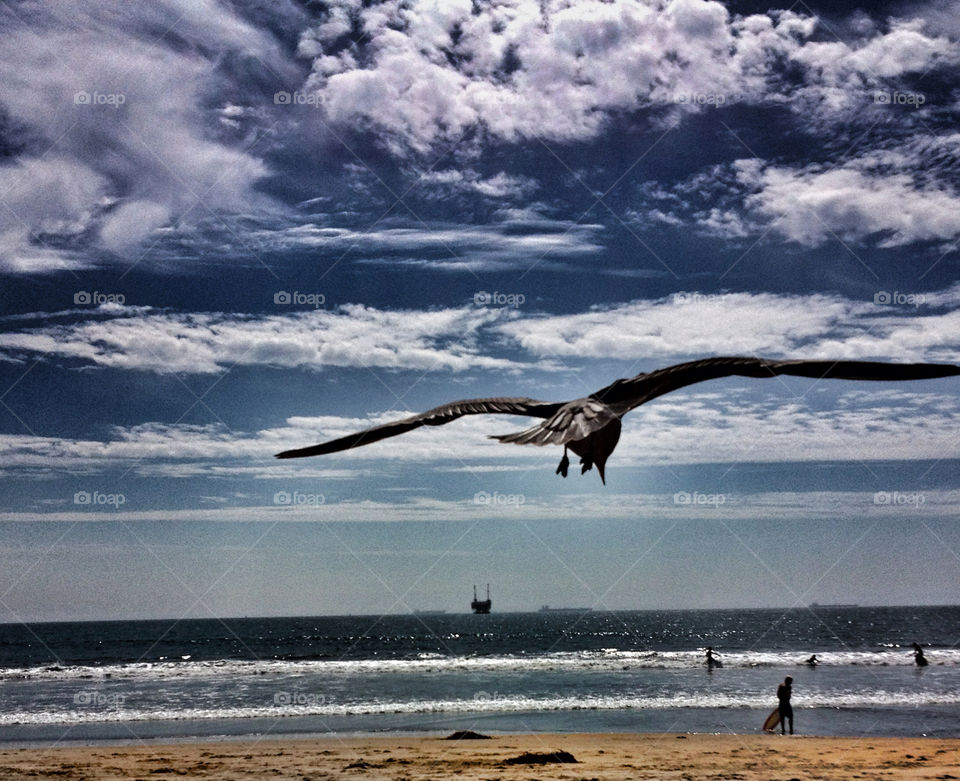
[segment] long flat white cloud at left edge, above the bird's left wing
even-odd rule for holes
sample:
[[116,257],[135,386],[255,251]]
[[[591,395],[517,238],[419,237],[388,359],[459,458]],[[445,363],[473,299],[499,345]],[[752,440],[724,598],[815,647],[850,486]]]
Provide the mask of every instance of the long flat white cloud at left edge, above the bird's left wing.
[[[265,291],[265,297],[274,295]],[[465,371],[524,365],[476,346],[478,332],[502,317],[496,309],[383,311],[347,305],[257,317],[128,313],[114,307],[98,314],[79,323],[2,334],[0,349],[8,356],[36,354],[161,374],[234,366]]]

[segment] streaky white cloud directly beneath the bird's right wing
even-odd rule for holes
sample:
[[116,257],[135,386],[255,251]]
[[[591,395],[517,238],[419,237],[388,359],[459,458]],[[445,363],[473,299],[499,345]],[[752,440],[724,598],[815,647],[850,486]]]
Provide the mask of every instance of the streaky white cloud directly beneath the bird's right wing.
[[[630,413],[611,463],[688,464],[779,461],[916,460],[960,457],[956,431],[960,404],[953,396],[907,391],[894,402],[882,391],[844,393],[836,406],[818,409],[809,383],[796,396],[793,385],[774,380],[744,388],[769,392],[751,400],[742,392],[723,395],[687,391]],[[767,387],[770,385],[770,387]],[[864,479],[870,476],[864,468]]]

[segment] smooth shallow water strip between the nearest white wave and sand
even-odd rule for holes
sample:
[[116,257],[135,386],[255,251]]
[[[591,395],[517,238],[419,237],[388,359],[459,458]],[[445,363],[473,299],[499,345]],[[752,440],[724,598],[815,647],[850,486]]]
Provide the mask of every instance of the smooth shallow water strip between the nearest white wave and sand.
[[[56,745],[216,743],[290,740],[432,738],[457,730],[489,735],[584,733],[759,735],[773,705],[757,708],[668,708],[458,713],[390,713],[369,716],[272,716],[270,718],[126,720],[102,723],[11,724],[0,728],[0,750]],[[934,737],[960,740],[953,704],[884,708],[822,708],[794,705],[798,735],[821,738]],[[957,774],[960,778],[960,773]]]

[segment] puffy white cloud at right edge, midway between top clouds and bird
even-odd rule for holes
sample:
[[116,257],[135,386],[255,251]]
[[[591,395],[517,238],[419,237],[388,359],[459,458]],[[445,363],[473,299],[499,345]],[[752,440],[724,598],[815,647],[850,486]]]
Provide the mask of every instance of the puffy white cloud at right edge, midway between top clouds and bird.
[[806,247],[840,239],[899,247],[960,236],[960,135],[925,134],[847,159],[778,164],[744,158],[667,189],[641,188],[645,225],[694,224],[725,238],[770,232]]

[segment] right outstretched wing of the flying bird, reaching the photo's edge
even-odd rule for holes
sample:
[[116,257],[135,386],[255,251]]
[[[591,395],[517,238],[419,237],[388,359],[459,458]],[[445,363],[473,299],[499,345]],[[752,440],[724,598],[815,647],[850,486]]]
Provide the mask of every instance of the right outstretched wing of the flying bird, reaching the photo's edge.
[[771,361],[764,358],[723,357],[678,363],[647,374],[617,380],[591,394],[618,414],[646,404],[664,393],[720,377],[798,377],[833,380],[931,380],[960,374],[949,363],[880,363],[877,361]]

